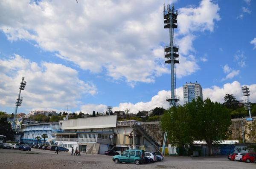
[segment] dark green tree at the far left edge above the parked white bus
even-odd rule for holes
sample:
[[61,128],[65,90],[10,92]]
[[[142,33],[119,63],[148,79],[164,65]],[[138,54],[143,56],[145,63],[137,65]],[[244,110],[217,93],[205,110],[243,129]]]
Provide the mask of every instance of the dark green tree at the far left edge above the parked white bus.
[[11,123],[6,117],[0,118],[0,134],[6,136],[6,140],[14,140],[15,131],[12,129]]

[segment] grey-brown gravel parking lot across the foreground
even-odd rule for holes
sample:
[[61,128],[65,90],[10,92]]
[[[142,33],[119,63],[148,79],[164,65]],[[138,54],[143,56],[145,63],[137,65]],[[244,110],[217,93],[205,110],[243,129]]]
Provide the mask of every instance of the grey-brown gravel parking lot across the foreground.
[[72,156],[70,152],[32,149],[29,151],[0,149],[0,169],[256,169],[256,163],[227,160],[226,156],[165,157],[156,163],[115,164],[111,156]]

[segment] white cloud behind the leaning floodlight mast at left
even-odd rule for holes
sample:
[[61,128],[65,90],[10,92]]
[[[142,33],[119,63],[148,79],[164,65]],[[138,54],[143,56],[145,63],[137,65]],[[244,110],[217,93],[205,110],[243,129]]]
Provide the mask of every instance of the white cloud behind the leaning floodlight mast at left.
[[0,59],[0,106],[14,106],[21,77],[26,88],[22,106],[32,109],[63,109],[76,107],[81,94],[94,95],[96,87],[79,80],[78,72],[70,67],[42,62],[31,62],[14,54],[9,59]]

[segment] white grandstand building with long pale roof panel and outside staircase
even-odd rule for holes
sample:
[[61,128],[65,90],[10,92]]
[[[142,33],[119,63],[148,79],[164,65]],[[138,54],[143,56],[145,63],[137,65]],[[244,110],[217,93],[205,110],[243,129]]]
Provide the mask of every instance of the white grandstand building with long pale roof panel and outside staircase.
[[55,142],[68,149],[89,154],[104,154],[109,149],[154,151],[157,143],[135,120],[117,121],[117,115],[61,120],[63,132],[55,133]]

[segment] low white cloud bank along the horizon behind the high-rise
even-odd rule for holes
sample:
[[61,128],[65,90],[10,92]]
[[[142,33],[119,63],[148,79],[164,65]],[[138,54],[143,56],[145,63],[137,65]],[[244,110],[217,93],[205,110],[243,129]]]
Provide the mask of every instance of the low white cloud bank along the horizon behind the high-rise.
[[[216,101],[219,103],[223,103],[224,96],[229,93],[233,94],[237,100],[244,100],[241,92],[241,85],[238,81],[234,81],[233,83],[226,83],[222,87],[212,86],[211,88],[203,89],[203,98],[206,99],[209,97],[212,101]],[[247,85],[250,90],[250,101],[256,102],[256,84]],[[155,107],[163,107],[165,109],[169,108],[169,102],[166,102],[166,96],[171,95],[171,91],[161,90],[157,93],[157,95],[153,96],[148,102],[138,102],[138,103],[119,103],[119,106],[113,107],[113,111],[125,111],[125,109],[130,109],[130,112],[137,113],[139,110],[149,111],[154,109]],[[183,87],[177,88],[177,95],[180,96],[180,105],[183,105]],[[86,108],[86,109],[85,109]],[[100,108],[100,109],[99,109]],[[107,111],[106,105],[84,105],[81,107],[82,110],[86,110],[88,113],[93,110],[102,110],[102,112]]]

